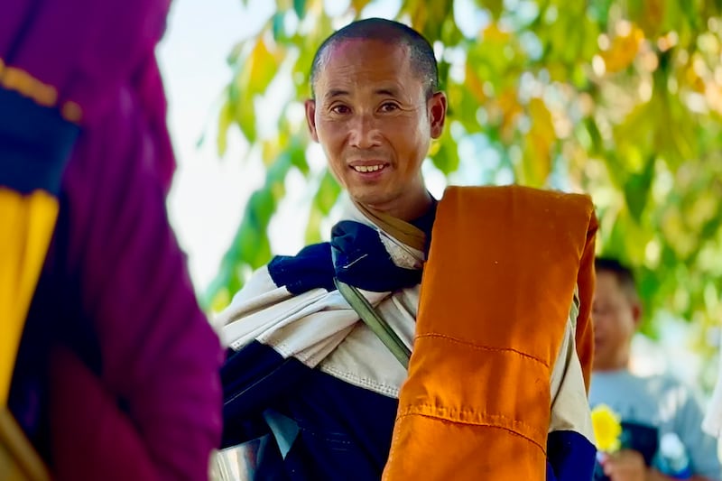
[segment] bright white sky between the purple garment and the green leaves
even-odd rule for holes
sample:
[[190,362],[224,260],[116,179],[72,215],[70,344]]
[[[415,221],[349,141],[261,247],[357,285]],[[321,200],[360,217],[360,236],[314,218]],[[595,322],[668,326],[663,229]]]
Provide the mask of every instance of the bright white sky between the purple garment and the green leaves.
[[[226,57],[239,40],[253,35],[271,2],[176,0],[158,51],[169,100],[168,121],[178,160],[168,207],[190,273],[204,289],[218,270],[240,221],[246,199],[264,172],[244,168],[245,145],[231,135],[227,155],[216,151],[217,112],[231,76]],[[206,134],[206,142],[198,141]]]

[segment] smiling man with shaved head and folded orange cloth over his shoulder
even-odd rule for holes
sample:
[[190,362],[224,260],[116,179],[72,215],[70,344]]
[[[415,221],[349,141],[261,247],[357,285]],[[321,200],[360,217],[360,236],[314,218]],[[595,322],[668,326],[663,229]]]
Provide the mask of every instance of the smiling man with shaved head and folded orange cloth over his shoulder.
[[310,136],[345,214],[219,316],[224,446],[254,479],[589,479],[590,200],[433,199],[421,164],[447,98],[402,23],[335,32],[310,79]]

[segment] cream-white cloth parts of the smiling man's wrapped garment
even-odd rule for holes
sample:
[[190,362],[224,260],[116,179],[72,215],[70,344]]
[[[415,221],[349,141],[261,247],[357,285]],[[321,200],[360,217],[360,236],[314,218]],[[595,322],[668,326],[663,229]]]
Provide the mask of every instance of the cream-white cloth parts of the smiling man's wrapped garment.
[[[350,202],[343,218],[374,227],[394,264],[422,268],[423,252],[384,232]],[[361,292],[412,349],[420,285],[393,292]],[[575,295],[552,371],[549,430],[575,430],[594,439],[574,340],[578,302]],[[237,350],[255,340],[273,347],[285,358],[296,357],[349,384],[398,398],[406,370],[359,320],[338,291],[317,288],[293,295],[285,286],[273,282],[265,266],[253,274],[214,323],[228,347]]]

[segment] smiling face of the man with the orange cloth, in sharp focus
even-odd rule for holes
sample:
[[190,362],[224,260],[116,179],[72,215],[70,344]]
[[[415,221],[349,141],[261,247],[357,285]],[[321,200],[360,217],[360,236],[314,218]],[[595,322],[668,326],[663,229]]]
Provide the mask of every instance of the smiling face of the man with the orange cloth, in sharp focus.
[[345,40],[331,45],[324,60],[316,98],[306,103],[312,138],[352,199],[408,212],[426,199],[421,162],[443,130],[446,98],[427,99],[405,45]]

